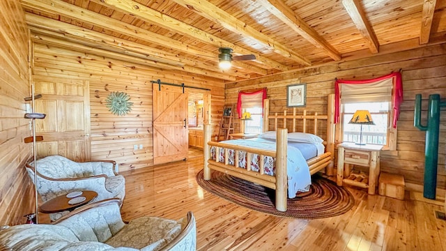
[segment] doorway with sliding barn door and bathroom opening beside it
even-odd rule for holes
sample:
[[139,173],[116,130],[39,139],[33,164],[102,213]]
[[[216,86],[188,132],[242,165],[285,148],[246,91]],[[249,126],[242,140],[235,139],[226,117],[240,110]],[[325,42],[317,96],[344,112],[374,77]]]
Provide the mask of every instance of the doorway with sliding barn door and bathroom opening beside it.
[[[210,123],[210,97],[208,89],[153,82],[154,165],[190,158],[190,144],[199,149],[194,156],[203,155],[203,125]],[[191,115],[189,101],[195,104]]]

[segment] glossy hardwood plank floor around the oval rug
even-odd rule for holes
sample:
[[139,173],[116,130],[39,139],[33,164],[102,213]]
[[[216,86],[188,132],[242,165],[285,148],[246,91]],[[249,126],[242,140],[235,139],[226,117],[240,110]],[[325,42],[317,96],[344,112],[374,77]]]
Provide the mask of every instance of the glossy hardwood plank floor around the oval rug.
[[399,201],[348,188],[356,204],[319,220],[278,218],[243,208],[201,189],[203,158],[125,172],[125,220],[141,215],[178,219],[192,211],[197,250],[446,250],[438,204]]

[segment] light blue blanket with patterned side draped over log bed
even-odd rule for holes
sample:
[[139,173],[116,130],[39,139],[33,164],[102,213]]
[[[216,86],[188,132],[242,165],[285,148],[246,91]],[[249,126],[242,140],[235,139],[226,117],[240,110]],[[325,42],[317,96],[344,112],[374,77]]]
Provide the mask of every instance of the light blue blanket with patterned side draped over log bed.
[[[233,139],[221,143],[234,144],[238,146],[249,146],[257,149],[275,151],[275,141],[256,138],[256,139]],[[309,174],[309,167],[307,161],[302,156],[302,153],[293,146],[287,146],[287,175],[288,175],[288,197],[293,199],[296,192],[307,192],[309,185],[312,184],[312,178]],[[229,164],[234,165],[234,152],[229,150]],[[210,150],[211,157],[215,160],[215,147]],[[224,162],[224,151],[220,148],[219,161]],[[246,168],[246,152],[239,151],[239,166]],[[251,168],[254,172],[259,172],[260,156],[254,154],[252,156]],[[269,175],[275,174],[275,159],[270,156],[265,156],[265,173]]]

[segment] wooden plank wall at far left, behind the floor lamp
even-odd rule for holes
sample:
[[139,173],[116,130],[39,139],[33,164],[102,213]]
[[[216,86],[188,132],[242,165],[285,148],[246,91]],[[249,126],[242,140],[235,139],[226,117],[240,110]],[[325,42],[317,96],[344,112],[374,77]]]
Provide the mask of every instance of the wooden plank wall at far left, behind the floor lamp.
[[29,35],[15,0],[0,1],[0,225],[24,223],[34,194],[24,162],[31,157],[29,119],[24,98],[29,92]]

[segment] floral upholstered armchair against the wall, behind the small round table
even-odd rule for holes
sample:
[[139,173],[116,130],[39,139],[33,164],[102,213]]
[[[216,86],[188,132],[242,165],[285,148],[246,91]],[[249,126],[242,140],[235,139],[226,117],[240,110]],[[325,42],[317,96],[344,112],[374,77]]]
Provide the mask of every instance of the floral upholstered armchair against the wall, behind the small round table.
[[[60,155],[50,155],[36,161],[36,188],[43,201],[49,201],[59,195],[79,190],[92,190],[98,193],[93,201],[125,197],[125,179],[117,175],[116,162],[102,160],[93,162],[75,162]],[[34,162],[26,163],[26,171],[34,182]],[[51,220],[57,220],[68,211],[52,213]]]

